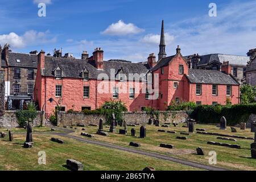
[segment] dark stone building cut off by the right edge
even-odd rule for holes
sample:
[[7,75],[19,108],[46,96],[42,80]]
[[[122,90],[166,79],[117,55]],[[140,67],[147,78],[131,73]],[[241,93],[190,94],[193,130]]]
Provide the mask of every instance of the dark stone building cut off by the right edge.
[[256,49],[250,49],[247,53],[250,56],[250,61],[247,64],[247,84],[255,86],[256,85]]

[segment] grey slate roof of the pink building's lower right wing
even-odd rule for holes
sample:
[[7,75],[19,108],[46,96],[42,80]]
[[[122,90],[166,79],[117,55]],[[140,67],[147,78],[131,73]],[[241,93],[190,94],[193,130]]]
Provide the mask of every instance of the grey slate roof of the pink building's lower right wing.
[[187,78],[196,84],[239,85],[232,76],[213,70],[189,69]]

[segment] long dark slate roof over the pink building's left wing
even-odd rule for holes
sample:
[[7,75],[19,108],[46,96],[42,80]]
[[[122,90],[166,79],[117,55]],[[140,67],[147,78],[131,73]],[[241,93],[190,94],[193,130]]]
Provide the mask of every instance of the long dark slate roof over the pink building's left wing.
[[90,79],[97,79],[100,73],[106,73],[110,78],[110,71],[117,73],[119,69],[123,69],[125,75],[129,76],[129,73],[146,74],[150,69],[148,64],[129,63],[129,62],[116,62],[116,61],[104,61],[104,70],[98,70],[94,61],[86,61],[81,59],[71,59],[64,57],[49,57],[45,58],[45,70],[44,76],[54,76],[53,70],[58,66],[63,71],[63,77],[68,78],[81,78],[81,72],[86,68],[89,72]]

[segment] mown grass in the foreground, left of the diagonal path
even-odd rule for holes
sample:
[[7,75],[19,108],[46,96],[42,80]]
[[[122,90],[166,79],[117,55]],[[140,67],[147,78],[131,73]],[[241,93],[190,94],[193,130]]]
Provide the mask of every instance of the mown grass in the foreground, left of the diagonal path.
[[[34,131],[37,128],[34,129]],[[39,128],[48,131],[47,128]],[[13,130],[15,131],[15,130]],[[18,130],[19,131],[19,130]],[[34,146],[23,148],[26,134],[14,134],[14,141],[8,136],[0,139],[0,170],[68,170],[64,167],[67,159],[75,159],[84,164],[84,170],[139,170],[152,166],[156,170],[199,170],[182,164],[168,162],[130,152],[94,146],[61,138],[64,144],[52,142],[51,135],[34,133]],[[38,164],[38,152],[46,152],[46,165]]]

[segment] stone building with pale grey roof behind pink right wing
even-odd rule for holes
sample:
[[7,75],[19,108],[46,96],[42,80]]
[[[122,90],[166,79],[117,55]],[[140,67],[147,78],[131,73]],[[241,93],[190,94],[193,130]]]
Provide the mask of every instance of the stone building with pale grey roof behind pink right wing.
[[246,65],[248,56],[225,55],[213,53],[209,55],[191,55],[185,57],[192,69],[208,69],[232,75],[240,83],[246,84]]

